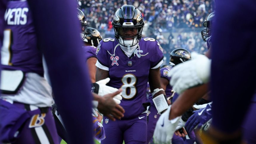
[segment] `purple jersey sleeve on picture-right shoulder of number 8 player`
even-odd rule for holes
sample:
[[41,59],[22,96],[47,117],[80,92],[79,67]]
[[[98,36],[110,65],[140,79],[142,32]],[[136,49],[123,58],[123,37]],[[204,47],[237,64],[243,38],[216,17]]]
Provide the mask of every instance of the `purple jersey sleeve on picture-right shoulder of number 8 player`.
[[160,46],[157,40],[155,42],[148,42],[148,43],[149,43],[148,44],[149,47],[151,47],[149,51],[149,53],[151,53],[150,68],[154,68],[155,66],[157,66],[159,62],[163,60],[163,48]]

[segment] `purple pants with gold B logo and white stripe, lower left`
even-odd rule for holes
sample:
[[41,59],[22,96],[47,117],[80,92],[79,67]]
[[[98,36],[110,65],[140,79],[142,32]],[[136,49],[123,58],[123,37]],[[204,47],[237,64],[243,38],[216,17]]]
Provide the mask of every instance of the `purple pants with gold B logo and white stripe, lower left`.
[[[3,108],[10,106],[10,103],[7,105],[1,105]],[[13,107],[14,106],[14,107]],[[22,115],[19,115],[17,112],[19,109],[26,109],[27,111],[30,110],[36,110],[38,107],[28,105],[28,104],[21,104],[21,103],[14,103],[11,104],[11,109],[6,109],[8,113],[10,113],[12,110],[13,112],[10,113],[10,116],[3,117],[7,118],[8,121],[11,121],[13,126],[8,126],[9,124],[4,124],[3,121],[1,121],[1,126],[6,126],[6,130],[8,129],[13,129],[13,127],[17,127],[15,129],[15,138],[13,138],[12,143],[14,144],[24,144],[24,143],[29,143],[29,144],[38,144],[38,143],[50,143],[50,144],[57,144],[59,143],[58,141],[58,135],[57,131],[55,128],[55,123],[53,116],[51,114],[51,108],[44,108],[44,112],[40,109],[41,113],[40,114],[35,114],[30,118],[25,118],[22,120]],[[11,110],[11,111],[10,111]],[[4,114],[5,110],[1,109],[1,114]],[[19,115],[15,117],[15,115]],[[22,122],[19,122],[19,120],[22,120]],[[6,121],[7,122],[7,121]],[[18,125],[17,125],[18,123]],[[18,131],[18,132],[17,132]],[[7,134],[8,135],[8,134]],[[8,140],[9,141],[9,140]],[[0,142],[1,143],[1,142]]]

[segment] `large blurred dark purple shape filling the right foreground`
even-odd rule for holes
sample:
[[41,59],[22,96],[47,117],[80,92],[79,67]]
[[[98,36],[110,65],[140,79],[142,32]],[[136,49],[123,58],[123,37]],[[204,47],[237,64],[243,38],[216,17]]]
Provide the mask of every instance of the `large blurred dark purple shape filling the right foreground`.
[[255,0],[216,3],[210,88],[213,126],[222,132],[241,129],[255,92],[255,7]]

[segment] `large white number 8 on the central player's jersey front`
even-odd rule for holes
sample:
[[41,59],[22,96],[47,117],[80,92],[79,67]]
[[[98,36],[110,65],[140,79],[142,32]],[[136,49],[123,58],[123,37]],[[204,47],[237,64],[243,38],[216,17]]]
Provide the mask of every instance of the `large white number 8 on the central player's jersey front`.
[[[129,79],[129,82],[128,82],[128,79]],[[122,77],[121,82],[123,83],[123,85],[121,86],[122,97],[124,99],[133,98],[137,93],[137,89],[135,87],[135,84],[137,82],[136,76],[131,73],[127,73]],[[128,89],[130,90],[129,94],[127,94]]]

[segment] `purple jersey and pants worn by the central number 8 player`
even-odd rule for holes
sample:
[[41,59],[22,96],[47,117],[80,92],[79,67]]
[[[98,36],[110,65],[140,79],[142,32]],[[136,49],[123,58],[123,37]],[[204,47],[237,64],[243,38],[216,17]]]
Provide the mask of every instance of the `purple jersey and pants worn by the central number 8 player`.
[[[124,118],[121,120],[113,122],[107,117],[103,118],[106,139],[102,143],[116,144],[122,143],[123,140],[125,143],[146,143],[147,117],[146,113],[143,113],[145,109],[142,103],[148,101],[146,90],[149,70],[160,67],[163,51],[157,41],[143,38],[138,43],[140,49],[137,48],[131,57],[127,57],[117,45],[115,39],[104,39],[96,53],[96,66],[109,71],[108,85],[122,88],[123,99],[120,105],[125,110]],[[114,51],[115,46],[117,47]]]

